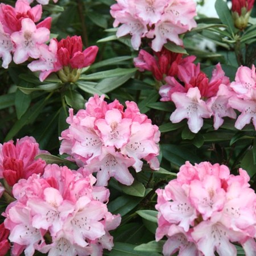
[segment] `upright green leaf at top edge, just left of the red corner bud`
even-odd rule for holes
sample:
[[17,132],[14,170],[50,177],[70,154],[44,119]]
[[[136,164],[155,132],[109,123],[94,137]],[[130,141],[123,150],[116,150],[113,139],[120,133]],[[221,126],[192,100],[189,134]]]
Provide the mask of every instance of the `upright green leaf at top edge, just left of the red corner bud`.
[[227,3],[223,0],[216,0],[215,9],[221,22],[228,26],[228,31],[230,32],[231,35],[233,35],[234,32],[236,31],[236,28],[234,27],[233,18],[232,15],[230,14],[230,10]]

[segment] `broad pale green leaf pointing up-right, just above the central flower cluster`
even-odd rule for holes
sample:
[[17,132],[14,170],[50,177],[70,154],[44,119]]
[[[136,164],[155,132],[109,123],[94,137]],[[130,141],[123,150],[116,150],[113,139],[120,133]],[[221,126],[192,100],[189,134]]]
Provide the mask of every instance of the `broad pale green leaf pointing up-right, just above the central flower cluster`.
[[110,77],[108,79],[103,79],[95,86],[95,88],[100,90],[101,92],[108,93],[124,84],[131,78],[131,76],[133,76],[133,73],[130,73],[125,76]]

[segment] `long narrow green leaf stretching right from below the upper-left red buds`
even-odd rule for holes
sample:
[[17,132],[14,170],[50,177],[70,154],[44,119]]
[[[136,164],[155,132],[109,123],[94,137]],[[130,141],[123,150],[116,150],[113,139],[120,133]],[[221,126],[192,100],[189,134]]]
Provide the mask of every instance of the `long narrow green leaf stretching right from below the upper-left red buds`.
[[107,71],[101,71],[90,75],[82,75],[80,80],[99,80],[108,77],[124,76],[137,71],[137,68],[115,68]]

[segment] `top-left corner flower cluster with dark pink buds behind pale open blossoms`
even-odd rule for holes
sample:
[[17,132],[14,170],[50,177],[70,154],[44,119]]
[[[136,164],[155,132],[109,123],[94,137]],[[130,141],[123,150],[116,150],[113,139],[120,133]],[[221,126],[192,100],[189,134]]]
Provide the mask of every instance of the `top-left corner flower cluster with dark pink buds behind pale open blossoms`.
[[30,7],[26,0],[18,0],[15,7],[0,4],[0,57],[3,68],[12,60],[20,64],[29,57],[38,59],[40,46],[49,40],[51,18],[35,24],[41,19],[42,6]]

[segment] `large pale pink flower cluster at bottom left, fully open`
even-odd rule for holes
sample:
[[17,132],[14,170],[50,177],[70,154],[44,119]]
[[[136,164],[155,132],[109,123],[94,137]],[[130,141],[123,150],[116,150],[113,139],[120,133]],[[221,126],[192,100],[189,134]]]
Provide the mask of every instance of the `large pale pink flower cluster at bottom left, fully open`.
[[12,255],[102,255],[111,250],[121,217],[108,212],[109,190],[94,187],[86,170],[71,171],[48,165],[42,176],[33,174],[13,187],[16,199],[4,213],[13,242]]

